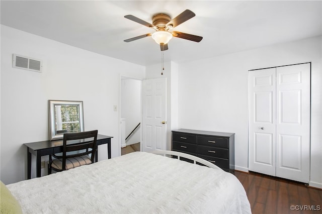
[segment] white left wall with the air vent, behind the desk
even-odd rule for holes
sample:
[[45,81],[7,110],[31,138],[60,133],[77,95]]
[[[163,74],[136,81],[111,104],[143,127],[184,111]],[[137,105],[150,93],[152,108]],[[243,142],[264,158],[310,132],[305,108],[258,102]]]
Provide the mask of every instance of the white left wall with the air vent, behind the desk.
[[[119,155],[119,111],[113,110],[119,103],[119,78],[142,79],[145,67],[3,25],[1,45],[0,172],[5,184],[26,179],[23,143],[49,139],[48,99],[83,100],[85,130],[113,136],[112,157]],[[42,73],[13,68],[14,53],[42,59]],[[102,145],[99,160],[106,158]],[[32,168],[34,175],[34,158]]]

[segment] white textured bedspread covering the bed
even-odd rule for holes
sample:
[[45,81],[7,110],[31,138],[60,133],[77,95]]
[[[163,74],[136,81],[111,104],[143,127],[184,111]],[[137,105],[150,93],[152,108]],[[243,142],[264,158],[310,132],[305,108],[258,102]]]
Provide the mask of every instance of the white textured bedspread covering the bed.
[[251,213],[234,175],[145,152],[7,187],[24,213]]

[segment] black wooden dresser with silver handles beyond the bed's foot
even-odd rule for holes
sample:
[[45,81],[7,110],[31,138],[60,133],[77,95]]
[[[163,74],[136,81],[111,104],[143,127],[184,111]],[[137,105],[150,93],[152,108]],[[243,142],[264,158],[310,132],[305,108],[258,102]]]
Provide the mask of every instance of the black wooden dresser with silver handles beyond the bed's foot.
[[195,155],[225,171],[235,168],[234,133],[190,129],[172,131],[172,150]]

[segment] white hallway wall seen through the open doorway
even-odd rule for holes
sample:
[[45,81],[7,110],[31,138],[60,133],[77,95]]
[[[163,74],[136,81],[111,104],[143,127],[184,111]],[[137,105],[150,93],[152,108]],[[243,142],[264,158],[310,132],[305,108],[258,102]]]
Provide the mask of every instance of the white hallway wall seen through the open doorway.
[[[121,80],[121,118],[126,119],[125,138],[141,122],[141,80]],[[126,145],[140,142],[140,126],[127,139]]]

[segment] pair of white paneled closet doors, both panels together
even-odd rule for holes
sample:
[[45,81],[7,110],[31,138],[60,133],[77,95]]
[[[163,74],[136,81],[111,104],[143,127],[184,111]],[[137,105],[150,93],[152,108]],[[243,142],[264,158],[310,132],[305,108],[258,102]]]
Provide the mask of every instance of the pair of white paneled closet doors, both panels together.
[[249,72],[249,170],[309,181],[310,64]]

